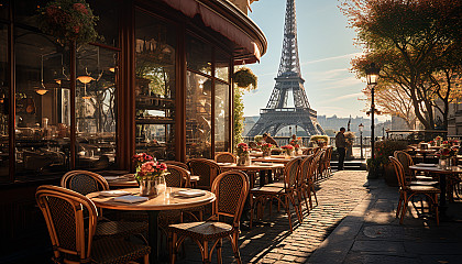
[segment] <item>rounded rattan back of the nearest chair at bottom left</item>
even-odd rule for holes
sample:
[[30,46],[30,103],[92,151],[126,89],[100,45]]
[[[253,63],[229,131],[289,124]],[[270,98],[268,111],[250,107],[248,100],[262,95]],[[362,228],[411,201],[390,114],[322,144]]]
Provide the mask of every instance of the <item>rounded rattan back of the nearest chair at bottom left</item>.
[[[35,198],[48,228],[54,260],[73,255],[79,263],[90,262],[98,217],[94,202],[74,190],[50,185],[40,186]],[[84,210],[88,216],[84,217]]]

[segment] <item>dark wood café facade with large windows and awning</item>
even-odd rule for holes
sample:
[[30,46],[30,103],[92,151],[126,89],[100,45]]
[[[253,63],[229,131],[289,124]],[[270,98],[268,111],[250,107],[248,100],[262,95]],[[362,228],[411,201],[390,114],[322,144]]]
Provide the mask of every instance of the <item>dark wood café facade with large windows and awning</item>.
[[231,151],[233,66],[267,47],[227,0],[88,0],[102,37],[61,45],[37,29],[46,2],[0,0],[4,261],[47,245],[35,189],[68,170],[132,170],[140,152],[185,162]]

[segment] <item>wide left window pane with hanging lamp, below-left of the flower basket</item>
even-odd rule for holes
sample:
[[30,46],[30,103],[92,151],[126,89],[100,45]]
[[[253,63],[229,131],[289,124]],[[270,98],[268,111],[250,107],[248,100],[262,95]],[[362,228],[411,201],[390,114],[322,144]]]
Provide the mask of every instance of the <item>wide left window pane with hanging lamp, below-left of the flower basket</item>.
[[68,51],[41,34],[15,29],[16,175],[69,168]]

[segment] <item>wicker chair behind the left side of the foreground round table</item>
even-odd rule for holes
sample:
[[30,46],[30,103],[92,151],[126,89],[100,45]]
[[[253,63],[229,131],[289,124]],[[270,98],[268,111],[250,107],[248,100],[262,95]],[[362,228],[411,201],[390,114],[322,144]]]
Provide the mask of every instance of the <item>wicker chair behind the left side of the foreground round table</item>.
[[[61,179],[61,186],[80,195],[109,190],[108,182],[99,174],[87,170],[72,170],[66,173]],[[130,237],[131,234],[142,234],[147,231],[147,222],[132,221],[110,221],[102,218],[99,211],[99,222],[96,228],[95,238],[101,237]],[[144,237],[142,238],[144,240]]]

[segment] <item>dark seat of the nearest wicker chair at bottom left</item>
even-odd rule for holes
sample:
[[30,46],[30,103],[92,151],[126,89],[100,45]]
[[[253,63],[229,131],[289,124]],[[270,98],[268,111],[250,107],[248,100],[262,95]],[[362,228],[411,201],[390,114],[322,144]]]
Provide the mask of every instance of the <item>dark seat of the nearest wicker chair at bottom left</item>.
[[151,252],[147,245],[130,243],[124,240],[95,240],[91,246],[91,260],[96,263],[128,263],[143,257]]

